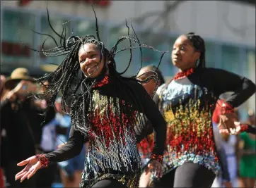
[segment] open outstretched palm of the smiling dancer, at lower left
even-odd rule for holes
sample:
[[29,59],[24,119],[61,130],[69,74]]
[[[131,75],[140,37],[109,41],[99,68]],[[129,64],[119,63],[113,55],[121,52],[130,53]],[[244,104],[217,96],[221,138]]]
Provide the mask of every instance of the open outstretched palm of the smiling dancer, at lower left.
[[26,165],[21,172],[17,173],[15,176],[15,180],[21,179],[21,182],[25,180],[25,178],[30,179],[38,169],[42,167],[39,161],[37,161],[36,156],[32,156],[30,158],[27,158],[24,161],[21,161],[21,163],[17,164],[18,166]]

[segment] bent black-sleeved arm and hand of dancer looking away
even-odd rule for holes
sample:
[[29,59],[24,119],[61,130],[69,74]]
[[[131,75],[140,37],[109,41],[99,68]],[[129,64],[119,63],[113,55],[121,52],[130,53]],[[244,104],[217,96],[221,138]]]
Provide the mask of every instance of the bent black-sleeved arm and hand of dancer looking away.
[[213,89],[216,96],[219,97],[220,94],[225,92],[232,92],[226,101],[219,104],[221,106],[219,129],[220,132],[235,134],[237,132],[235,122],[238,121],[238,117],[234,108],[243,104],[255,93],[255,84],[246,77],[241,77],[226,70],[206,68],[202,73],[204,76],[201,77],[201,80],[204,80],[203,82],[206,82],[208,87]]

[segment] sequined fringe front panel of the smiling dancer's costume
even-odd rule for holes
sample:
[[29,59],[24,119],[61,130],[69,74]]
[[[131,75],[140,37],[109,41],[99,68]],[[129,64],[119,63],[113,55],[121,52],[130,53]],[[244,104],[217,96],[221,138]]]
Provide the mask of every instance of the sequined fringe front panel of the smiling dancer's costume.
[[[120,111],[120,105],[131,106],[115,101],[110,96],[93,92],[93,127],[90,134],[90,148],[86,157],[83,184],[101,175],[114,177],[120,173],[134,175],[141,168],[141,158],[136,148],[134,134],[135,114],[127,117]],[[119,173],[120,172],[120,173]]]

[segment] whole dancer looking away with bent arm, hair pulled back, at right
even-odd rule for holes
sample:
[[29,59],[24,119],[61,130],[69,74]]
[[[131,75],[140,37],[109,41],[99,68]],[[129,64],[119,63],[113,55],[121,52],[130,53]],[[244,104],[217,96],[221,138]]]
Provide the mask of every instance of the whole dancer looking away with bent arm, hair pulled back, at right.
[[[154,96],[167,123],[163,177],[153,187],[211,187],[221,169],[212,130],[219,95],[233,92],[220,104],[220,130],[235,132],[233,108],[255,93],[255,84],[226,70],[205,67],[204,39],[193,32],[173,45],[172,61],[180,72],[158,87]],[[223,62],[225,63],[225,62]]]

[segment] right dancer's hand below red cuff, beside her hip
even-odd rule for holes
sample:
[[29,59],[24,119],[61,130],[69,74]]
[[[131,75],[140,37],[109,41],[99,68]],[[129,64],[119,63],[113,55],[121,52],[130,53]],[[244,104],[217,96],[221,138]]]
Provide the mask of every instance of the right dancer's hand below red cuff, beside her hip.
[[237,134],[240,130],[238,117],[235,113],[224,113],[219,116],[219,132],[227,134]]

